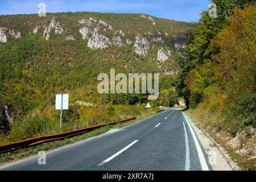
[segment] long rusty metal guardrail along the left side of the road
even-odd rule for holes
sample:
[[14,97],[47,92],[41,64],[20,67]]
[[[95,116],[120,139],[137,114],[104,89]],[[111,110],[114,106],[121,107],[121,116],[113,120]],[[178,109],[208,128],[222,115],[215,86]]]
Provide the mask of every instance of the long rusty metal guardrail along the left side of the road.
[[[120,121],[120,123],[131,121],[134,119],[136,119],[136,117],[124,119],[124,120]],[[64,133],[59,133],[59,134],[54,134],[54,135],[44,135],[44,136],[40,136],[40,137],[28,138],[26,140],[21,140],[18,142],[2,144],[2,145],[0,145],[0,154],[6,153],[6,152],[13,152],[15,150],[18,150],[19,148],[32,147],[32,146],[36,146],[38,144],[42,144],[42,143],[46,143],[46,142],[53,142],[55,140],[61,140],[64,138],[73,137],[75,135],[81,135],[83,133],[99,129],[103,126],[115,125],[117,123],[119,123],[119,122],[106,123],[103,125],[85,127],[82,129],[77,129],[77,130],[72,130],[72,131],[66,131]]]

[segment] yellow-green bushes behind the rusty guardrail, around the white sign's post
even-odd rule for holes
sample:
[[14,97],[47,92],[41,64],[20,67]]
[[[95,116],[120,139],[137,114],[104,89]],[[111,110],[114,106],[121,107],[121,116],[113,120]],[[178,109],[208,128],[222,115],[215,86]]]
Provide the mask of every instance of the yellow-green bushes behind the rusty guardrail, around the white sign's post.
[[[63,125],[60,129],[59,111],[54,106],[46,108],[48,111],[28,115],[22,121],[15,123],[2,143],[9,143],[27,138],[48,134],[56,134],[83,127],[101,125],[121,121],[131,117],[137,117],[147,113],[146,105],[105,105],[105,106],[71,106],[69,110],[63,110]],[[152,107],[151,111],[156,111]]]

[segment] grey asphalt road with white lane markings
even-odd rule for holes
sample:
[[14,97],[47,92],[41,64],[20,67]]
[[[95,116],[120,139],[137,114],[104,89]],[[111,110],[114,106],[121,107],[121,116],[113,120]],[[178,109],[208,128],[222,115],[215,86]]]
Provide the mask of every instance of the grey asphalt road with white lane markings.
[[[209,170],[204,150],[180,110],[0,167],[0,170]],[[42,158],[40,158],[42,159]],[[41,160],[42,161],[42,160]]]

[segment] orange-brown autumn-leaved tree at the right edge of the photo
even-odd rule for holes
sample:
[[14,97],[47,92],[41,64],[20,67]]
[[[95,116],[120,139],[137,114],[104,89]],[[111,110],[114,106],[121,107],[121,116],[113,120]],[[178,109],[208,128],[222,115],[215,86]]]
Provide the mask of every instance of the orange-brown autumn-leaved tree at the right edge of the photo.
[[229,25],[212,40],[212,44],[220,49],[220,53],[213,55],[217,60],[215,76],[228,95],[227,107],[234,117],[243,113],[243,117],[252,118],[255,112],[255,17],[255,5],[234,10],[234,15],[228,19]]

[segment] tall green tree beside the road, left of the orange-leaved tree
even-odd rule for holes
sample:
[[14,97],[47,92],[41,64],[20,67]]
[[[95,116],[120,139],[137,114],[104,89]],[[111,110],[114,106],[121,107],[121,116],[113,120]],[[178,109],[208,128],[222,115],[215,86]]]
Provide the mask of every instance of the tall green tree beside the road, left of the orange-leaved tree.
[[[183,88],[189,89],[189,97],[196,107],[203,101],[204,91],[208,86],[216,83],[213,77],[213,67],[216,59],[212,55],[217,55],[219,48],[211,44],[212,39],[227,26],[227,19],[234,14],[234,9],[243,9],[246,5],[253,3],[251,0],[212,0],[217,5],[217,18],[209,15],[208,11],[202,11],[201,18],[196,28],[189,31],[187,36],[187,47],[178,49],[175,60],[181,67],[177,76],[176,89],[179,96],[183,96]],[[203,69],[203,72],[201,72]],[[184,97],[184,96],[183,96]],[[188,96],[185,96],[188,98]]]

